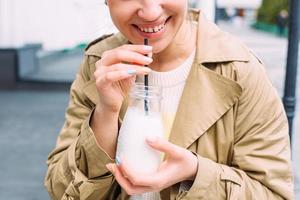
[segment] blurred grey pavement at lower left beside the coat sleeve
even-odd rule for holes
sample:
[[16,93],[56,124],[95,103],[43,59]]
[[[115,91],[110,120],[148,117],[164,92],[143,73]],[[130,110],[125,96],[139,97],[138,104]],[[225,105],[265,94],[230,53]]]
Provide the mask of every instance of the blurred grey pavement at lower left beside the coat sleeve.
[[67,91],[0,92],[0,199],[49,199],[48,153],[64,120]]

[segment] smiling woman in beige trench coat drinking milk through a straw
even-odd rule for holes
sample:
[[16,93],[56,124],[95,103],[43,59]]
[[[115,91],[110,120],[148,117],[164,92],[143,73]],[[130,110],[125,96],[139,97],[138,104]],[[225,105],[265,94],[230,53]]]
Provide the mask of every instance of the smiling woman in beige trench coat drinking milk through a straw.
[[[52,199],[293,199],[286,115],[262,63],[187,4],[107,1],[121,34],[86,49],[48,159]],[[126,96],[145,74],[171,105],[168,140],[146,141],[166,154],[151,176],[115,158]]]

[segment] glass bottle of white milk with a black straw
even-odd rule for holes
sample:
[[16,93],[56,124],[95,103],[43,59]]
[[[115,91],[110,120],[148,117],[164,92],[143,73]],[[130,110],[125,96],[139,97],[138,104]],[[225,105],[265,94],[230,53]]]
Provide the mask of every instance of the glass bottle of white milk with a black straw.
[[155,173],[161,152],[146,143],[147,137],[163,137],[161,88],[135,83],[130,91],[129,106],[119,131],[116,155],[139,174]]

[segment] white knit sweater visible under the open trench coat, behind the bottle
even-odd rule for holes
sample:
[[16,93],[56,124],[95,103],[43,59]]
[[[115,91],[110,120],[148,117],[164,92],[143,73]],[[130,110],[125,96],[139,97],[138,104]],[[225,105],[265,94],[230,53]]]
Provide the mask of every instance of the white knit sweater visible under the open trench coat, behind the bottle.
[[[195,50],[193,53],[177,68],[167,72],[152,71],[148,76],[149,85],[162,88],[161,113],[165,128],[165,137],[168,139],[173,121],[176,115],[178,104],[193,64]],[[137,77],[137,82],[143,82],[144,77]],[[181,189],[189,189],[190,186],[181,184]],[[131,200],[160,200],[158,192],[145,193],[138,196],[132,196]]]

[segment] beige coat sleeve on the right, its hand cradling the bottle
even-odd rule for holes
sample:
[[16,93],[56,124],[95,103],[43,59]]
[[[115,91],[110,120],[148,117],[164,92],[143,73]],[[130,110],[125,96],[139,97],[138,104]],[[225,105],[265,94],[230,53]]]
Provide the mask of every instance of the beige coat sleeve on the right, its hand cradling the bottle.
[[234,63],[243,88],[229,165],[198,155],[198,172],[178,199],[294,199],[286,114],[262,64]]

